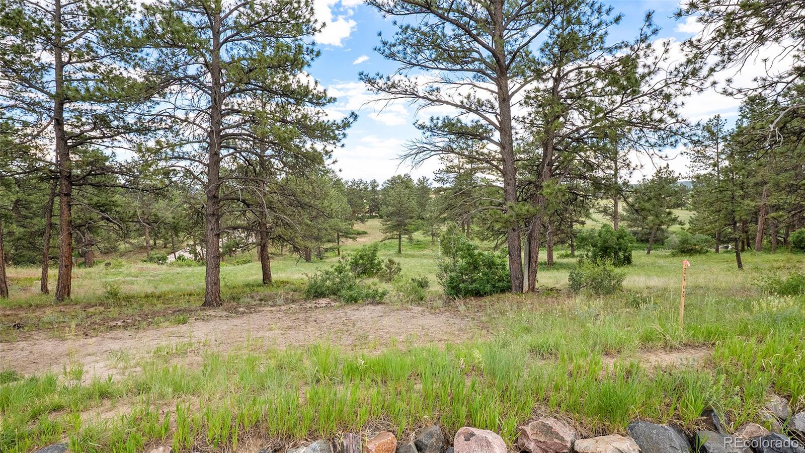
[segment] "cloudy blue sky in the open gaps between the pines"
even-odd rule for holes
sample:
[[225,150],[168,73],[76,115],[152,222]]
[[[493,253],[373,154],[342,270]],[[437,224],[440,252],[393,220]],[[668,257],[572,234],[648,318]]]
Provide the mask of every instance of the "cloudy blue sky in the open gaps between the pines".
[[[615,12],[624,14],[624,19],[613,30],[613,39],[630,39],[637,34],[638,27],[646,11],[654,10],[654,22],[663,28],[659,39],[672,39],[679,43],[697,30],[696,24],[673,19],[679,6],[678,0],[609,2]],[[332,106],[333,114],[346,114],[354,110],[357,122],[349,129],[344,148],[336,151],[336,164],[332,167],[345,179],[363,178],[365,180],[386,178],[398,173],[411,172],[413,175],[432,176],[438,168],[436,161],[428,162],[421,168],[411,169],[397,160],[398,153],[407,139],[418,136],[412,126],[415,108],[405,103],[395,103],[381,110],[377,103],[365,105],[374,98],[358,81],[358,73],[391,73],[396,68],[393,62],[384,60],[374,47],[378,44],[378,31],[390,36],[394,27],[390,19],[384,19],[374,8],[359,0],[316,0],[317,19],[327,23],[320,35],[316,36],[321,56],[312,64],[310,73],[328,88],[329,94],[338,99]],[[749,75],[747,74],[747,77]],[[738,102],[711,91],[697,95],[686,102],[683,114],[694,120],[708,118],[720,113],[725,117],[735,117]],[[420,114],[419,118],[422,118]],[[669,150],[675,156],[680,150]],[[643,162],[644,169],[634,178],[654,172],[650,162]],[[677,158],[671,167],[685,172],[685,161]]]

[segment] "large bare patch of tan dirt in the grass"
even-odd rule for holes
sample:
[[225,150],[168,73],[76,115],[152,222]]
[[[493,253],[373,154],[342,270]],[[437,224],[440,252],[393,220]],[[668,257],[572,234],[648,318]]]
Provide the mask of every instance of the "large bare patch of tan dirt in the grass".
[[[96,337],[54,339],[37,333],[30,339],[0,344],[0,368],[23,374],[83,364],[84,380],[122,373],[121,355],[129,357],[160,345],[204,343],[204,349],[226,351],[246,342],[262,347],[301,346],[329,342],[352,350],[390,345],[448,343],[480,331],[471,317],[438,313],[423,307],[374,304],[338,305],[321,299],[265,307],[235,314],[211,310],[209,318],[180,326],[149,330],[114,330]],[[200,355],[192,348],[190,355]],[[189,359],[192,359],[190,357]]]

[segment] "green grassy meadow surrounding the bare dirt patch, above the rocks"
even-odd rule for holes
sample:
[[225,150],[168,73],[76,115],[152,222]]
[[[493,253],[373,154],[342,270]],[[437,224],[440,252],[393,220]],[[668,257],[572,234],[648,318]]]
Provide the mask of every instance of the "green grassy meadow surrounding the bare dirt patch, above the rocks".
[[[344,252],[381,239],[377,220],[357,228],[369,233]],[[160,444],[180,452],[256,451],[256,443],[290,446],[345,431],[404,436],[430,422],[448,433],[460,426],[495,430],[512,443],[517,427],[537,414],[571,420],[584,434],[607,434],[623,432],[635,418],[692,428],[708,407],[734,429],[760,422],[762,401],[772,392],[792,409],[805,409],[805,297],[775,295],[761,285],[803,269],[805,255],[747,252],[743,271],[729,253],[688,257],[679,326],[683,257],[668,251],[646,256],[636,248],[634,264],[622,269],[624,291],[612,296],[569,293],[575,259],[558,249],[555,266],[540,268],[539,293],[464,301],[440,295],[429,238],[403,243],[403,256],[395,251],[393,241],[382,243],[382,258],[399,260],[404,276],[429,277],[423,306],[468,319],[477,314],[486,334],[374,351],[247,341],[204,350],[196,361],[182,358],[204,345],[171,343],[142,355],[121,351],[114,360],[125,372],[89,380],[81,365],[21,376],[4,363],[0,451],[60,440],[76,453],[135,453]],[[154,314],[132,329],[148,329],[158,316],[191,323],[200,311],[204,269],[140,260],[78,269],[68,305],[35,294],[35,268],[10,268],[0,347],[64,330],[97,335],[107,321],[131,314]],[[258,263],[225,266],[227,305],[293,303],[302,297],[304,274],[335,260],[275,256],[277,283],[267,288],[258,285]],[[393,293],[386,303],[394,303]],[[13,322],[23,328],[9,327]]]

